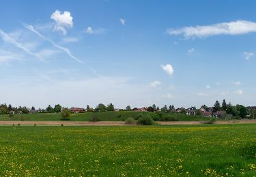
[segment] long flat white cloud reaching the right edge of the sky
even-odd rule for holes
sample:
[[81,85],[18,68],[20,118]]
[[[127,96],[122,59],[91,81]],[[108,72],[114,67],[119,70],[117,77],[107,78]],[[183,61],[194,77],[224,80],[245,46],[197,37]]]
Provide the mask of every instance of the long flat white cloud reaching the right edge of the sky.
[[245,33],[255,32],[256,22],[246,20],[221,22],[206,26],[182,27],[181,29],[167,29],[167,33],[169,33],[169,35],[184,35],[187,39],[213,35],[242,35]]

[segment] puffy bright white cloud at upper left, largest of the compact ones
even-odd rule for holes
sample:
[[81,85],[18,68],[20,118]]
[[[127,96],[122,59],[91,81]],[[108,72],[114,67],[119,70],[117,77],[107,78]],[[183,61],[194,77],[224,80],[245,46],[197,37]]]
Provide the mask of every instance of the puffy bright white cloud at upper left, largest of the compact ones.
[[54,31],[61,31],[63,35],[66,35],[66,28],[73,27],[73,18],[70,12],[65,11],[63,14],[59,10],[56,10],[51,15],[51,19],[55,20],[56,24]]

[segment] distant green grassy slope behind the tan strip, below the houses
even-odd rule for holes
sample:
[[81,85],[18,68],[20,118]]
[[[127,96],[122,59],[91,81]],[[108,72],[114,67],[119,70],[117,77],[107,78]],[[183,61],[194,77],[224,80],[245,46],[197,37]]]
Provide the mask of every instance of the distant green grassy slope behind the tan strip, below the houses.
[[[148,112],[86,112],[80,114],[72,114],[70,121],[89,121],[92,116],[96,116],[101,121],[124,121],[127,118],[137,118],[139,114],[151,114]],[[209,120],[203,116],[188,116],[184,114],[164,114],[173,120]],[[61,115],[59,113],[38,113],[38,114],[13,114],[10,118],[9,114],[0,115],[0,120],[29,120],[29,121],[60,121]]]

